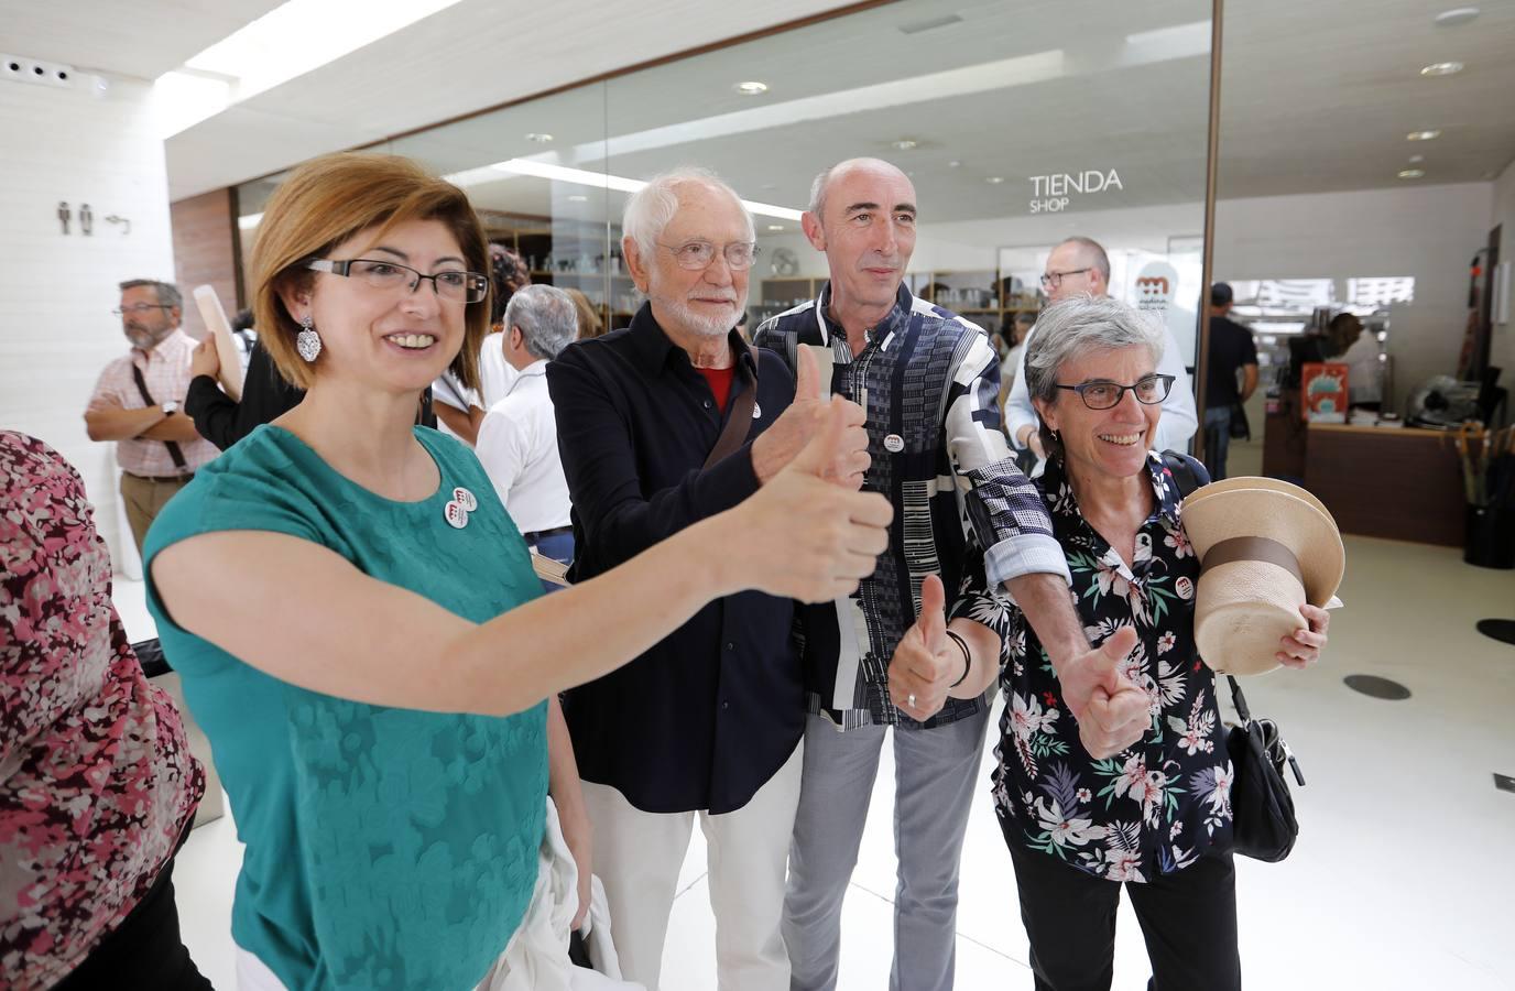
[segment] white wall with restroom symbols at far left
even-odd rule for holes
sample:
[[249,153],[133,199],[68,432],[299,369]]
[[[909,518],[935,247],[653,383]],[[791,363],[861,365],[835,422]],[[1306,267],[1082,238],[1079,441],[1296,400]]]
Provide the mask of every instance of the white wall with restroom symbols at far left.
[[[171,280],[174,256],[150,88],[109,82],[105,95],[0,82],[0,429],[38,436],[79,468],[120,564],[115,445],[85,435],[83,409],[100,370],[127,350],[111,315],[117,283]],[[68,236],[61,200],[74,214]],[[79,230],[82,203],[92,236]],[[130,218],[132,233],[109,214]]]

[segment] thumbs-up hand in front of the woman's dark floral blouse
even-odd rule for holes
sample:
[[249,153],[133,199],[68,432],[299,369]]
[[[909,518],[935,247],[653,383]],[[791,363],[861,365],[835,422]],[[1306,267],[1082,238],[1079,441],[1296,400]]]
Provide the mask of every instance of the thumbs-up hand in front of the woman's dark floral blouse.
[[1057,670],[1062,700],[1079,723],[1079,739],[1095,759],[1120,753],[1151,729],[1147,691],[1120,670],[1135,647],[1136,629],[1123,626],[1101,647]]

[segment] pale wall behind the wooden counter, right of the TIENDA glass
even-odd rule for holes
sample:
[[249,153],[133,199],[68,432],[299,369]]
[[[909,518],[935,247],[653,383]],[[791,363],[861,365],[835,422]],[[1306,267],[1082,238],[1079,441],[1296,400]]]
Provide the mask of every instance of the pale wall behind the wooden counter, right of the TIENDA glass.
[[1395,306],[1388,350],[1394,403],[1433,374],[1453,374],[1468,314],[1468,262],[1488,241],[1489,183],[1406,186],[1223,200],[1215,211],[1218,279],[1413,276],[1415,303]]

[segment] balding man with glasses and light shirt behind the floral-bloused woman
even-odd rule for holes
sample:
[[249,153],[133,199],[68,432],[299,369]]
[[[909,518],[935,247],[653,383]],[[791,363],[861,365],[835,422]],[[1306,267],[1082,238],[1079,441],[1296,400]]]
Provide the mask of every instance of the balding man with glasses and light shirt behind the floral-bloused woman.
[[[1047,268],[1041,277],[1042,289],[1051,303],[1073,299],[1076,295],[1109,295],[1110,294],[1110,258],[1098,241],[1091,238],[1068,238],[1051,250],[1047,256]],[[1157,424],[1157,436],[1147,438],[1157,450],[1188,450],[1189,438],[1198,427],[1198,415],[1194,411],[1194,383],[1183,368],[1179,342],[1167,327],[1162,330],[1164,352],[1159,371],[1173,376],[1173,389],[1162,403],[1162,421]],[[1036,336],[1036,329],[1026,336],[1024,344]],[[1030,394],[1026,391],[1026,355],[1021,353],[1021,371],[1015,376],[1015,385],[1004,400],[1004,420],[1011,435],[1011,442],[1021,450],[1030,450],[1038,462],[1045,462],[1047,452],[1042,450],[1041,435],[1036,429],[1036,411],[1032,408]]]

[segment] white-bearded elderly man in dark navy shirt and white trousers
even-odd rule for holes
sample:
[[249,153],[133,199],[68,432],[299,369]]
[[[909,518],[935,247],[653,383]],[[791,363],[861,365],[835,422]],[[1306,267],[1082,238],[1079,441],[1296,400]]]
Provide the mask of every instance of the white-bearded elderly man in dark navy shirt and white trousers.
[[[827,408],[814,364],[798,367],[797,391],[777,355],[735,330],[756,245],[730,186],[704,170],[658,176],[630,197],[623,226],[647,303],[630,327],[577,341],[547,367],[573,499],[571,580],[753,494]],[[847,408],[847,442],[830,474],[857,488],[864,412],[833,402]],[[795,567],[803,561],[797,549]],[[712,986],[789,986],[780,920],[804,735],[792,617],[786,599],[717,600],[564,697],[621,970],[648,988],[695,817],[717,920]]]

